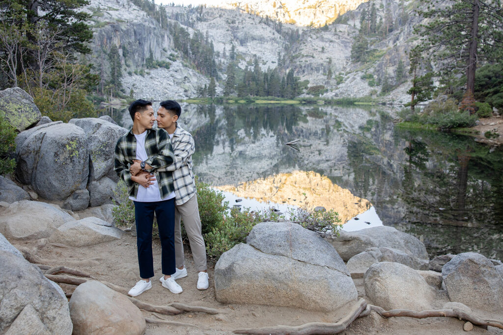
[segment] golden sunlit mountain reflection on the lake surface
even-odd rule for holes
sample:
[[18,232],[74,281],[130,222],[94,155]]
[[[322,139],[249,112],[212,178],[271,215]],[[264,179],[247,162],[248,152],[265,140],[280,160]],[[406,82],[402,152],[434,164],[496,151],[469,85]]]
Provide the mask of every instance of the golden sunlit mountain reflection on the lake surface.
[[284,202],[297,206],[307,204],[308,207],[323,206],[327,210],[337,211],[342,223],[346,223],[372,206],[370,201],[354,196],[349,190],[312,171],[280,173],[247,181],[238,186],[224,185],[217,188],[259,201]]

